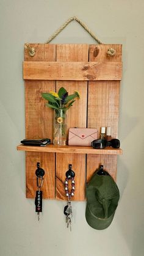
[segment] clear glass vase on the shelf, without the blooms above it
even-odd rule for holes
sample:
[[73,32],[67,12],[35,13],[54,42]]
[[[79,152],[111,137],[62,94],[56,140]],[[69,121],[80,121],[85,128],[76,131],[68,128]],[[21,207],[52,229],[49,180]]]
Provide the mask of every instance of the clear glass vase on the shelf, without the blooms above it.
[[63,109],[54,109],[53,144],[67,145],[67,112]]

